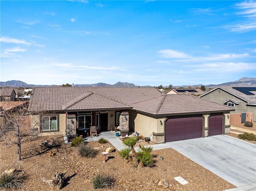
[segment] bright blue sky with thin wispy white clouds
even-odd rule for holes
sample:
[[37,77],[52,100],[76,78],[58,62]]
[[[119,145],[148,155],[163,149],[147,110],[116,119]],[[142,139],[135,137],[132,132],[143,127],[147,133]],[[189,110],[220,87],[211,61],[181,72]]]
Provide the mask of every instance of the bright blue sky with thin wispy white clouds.
[[256,1],[0,6],[0,81],[178,86],[256,77]]

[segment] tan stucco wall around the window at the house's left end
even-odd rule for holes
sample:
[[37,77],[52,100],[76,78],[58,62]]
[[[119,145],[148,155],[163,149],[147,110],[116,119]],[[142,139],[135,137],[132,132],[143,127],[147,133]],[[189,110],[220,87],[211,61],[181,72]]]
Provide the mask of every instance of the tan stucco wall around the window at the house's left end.
[[[53,114],[54,115],[54,114]],[[31,128],[38,128],[38,136],[64,135],[66,134],[66,114],[59,115],[59,131],[57,132],[40,132],[40,115],[31,116]]]

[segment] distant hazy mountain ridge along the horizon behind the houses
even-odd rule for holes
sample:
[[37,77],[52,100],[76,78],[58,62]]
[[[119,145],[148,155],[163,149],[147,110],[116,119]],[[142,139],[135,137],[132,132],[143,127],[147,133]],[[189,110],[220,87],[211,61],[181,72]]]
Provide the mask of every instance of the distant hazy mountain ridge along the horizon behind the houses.
[[[178,87],[184,87],[188,88],[190,87],[200,87],[202,84],[199,85],[183,85],[183,86],[174,86],[174,88]],[[31,87],[59,87],[60,85],[34,85],[34,84],[27,84],[22,81],[18,80],[11,80],[6,82],[0,82],[0,87],[24,87],[24,88],[31,88]],[[234,82],[227,82],[222,83],[218,85],[204,85],[206,88],[214,88],[217,86],[255,86],[256,87],[256,78],[247,78],[243,77],[237,81]],[[114,85],[106,84],[106,83],[96,83],[96,84],[74,84],[74,87],[139,87],[137,85],[134,85],[133,83],[127,83],[127,82],[118,82]],[[142,87],[152,87],[152,86],[142,86]]]

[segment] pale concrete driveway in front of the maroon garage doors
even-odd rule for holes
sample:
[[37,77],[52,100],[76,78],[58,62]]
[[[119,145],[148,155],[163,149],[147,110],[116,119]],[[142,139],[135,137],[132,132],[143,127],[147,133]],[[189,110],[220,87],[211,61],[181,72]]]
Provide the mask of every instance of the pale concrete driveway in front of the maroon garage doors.
[[233,185],[256,190],[256,145],[226,135],[166,143]]

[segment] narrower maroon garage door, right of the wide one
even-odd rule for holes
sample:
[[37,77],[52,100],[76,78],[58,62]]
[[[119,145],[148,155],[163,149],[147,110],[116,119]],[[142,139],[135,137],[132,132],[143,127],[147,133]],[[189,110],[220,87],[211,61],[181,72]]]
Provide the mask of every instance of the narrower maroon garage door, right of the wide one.
[[223,134],[223,116],[211,115],[209,118],[208,136]]

